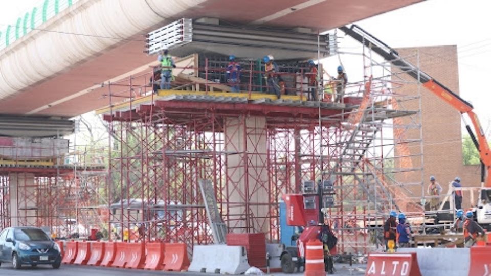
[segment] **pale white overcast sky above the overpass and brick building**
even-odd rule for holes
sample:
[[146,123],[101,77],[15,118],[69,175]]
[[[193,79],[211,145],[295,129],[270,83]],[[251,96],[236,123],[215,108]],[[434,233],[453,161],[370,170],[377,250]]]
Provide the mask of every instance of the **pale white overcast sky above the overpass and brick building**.
[[[13,24],[19,15],[39,3],[40,0],[1,0],[0,28]],[[488,0],[428,0],[356,24],[393,48],[456,44],[460,95],[474,104],[475,112],[489,134],[491,91],[486,81],[491,76],[488,65],[491,33],[487,30],[491,26],[490,10],[491,1]],[[360,44],[348,41],[341,43],[346,49],[360,47]],[[350,63],[343,64],[349,72]],[[335,67],[329,71],[334,73]]]

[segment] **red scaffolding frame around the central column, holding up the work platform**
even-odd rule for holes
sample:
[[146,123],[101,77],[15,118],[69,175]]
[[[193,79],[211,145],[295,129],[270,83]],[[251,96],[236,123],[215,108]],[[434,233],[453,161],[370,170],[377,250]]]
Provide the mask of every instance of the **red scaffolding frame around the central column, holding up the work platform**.
[[[210,179],[229,231],[266,231],[269,240],[277,241],[282,194],[299,192],[302,180],[331,177],[339,204],[326,219],[338,234],[339,251],[368,243],[366,236],[352,235],[360,223],[367,228],[367,209],[350,204],[366,201],[367,195],[353,180],[325,174],[334,168],[351,134],[343,129],[349,110],[324,113],[301,107],[293,115],[290,110],[282,113],[281,106],[162,101],[153,96],[150,103],[133,106],[131,78],[129,83],[129,109],[123,111],[112,110],[109,85],[111,110],[104,120],[120,147],[120,156],[111,154],[109,160],[109,176],[118,177],[109,177],[107,183],[109,190],[119,191],[109,195],[108,202],[141,199],[142,215],[125,213],[124,206],[118,215],[110,213],[110,224],[119,223],[120,228],[145,225],[143,237],[130,240],[211,242],[198,187],[200,179]],[[255,125],[255,116],[265,124]],[[365,170],[363,164],[358,170]],[[154,212],[159,204],[159,213]]]

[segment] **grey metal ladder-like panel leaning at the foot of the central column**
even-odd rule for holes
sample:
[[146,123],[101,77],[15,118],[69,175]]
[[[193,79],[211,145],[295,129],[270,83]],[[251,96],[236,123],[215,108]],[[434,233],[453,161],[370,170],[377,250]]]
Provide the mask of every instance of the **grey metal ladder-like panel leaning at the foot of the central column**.
[[227,226],[221,219],[220,212],[218,212],[218,206],[216,204],[215,193],[213,191],[213,185],[210,180],[199,180],[199,189],[203,196],[203,202],[205,203],[206,215],[208,222],[210,223],[211,232],[215,244],[225,244],[225,236],[227,235]]

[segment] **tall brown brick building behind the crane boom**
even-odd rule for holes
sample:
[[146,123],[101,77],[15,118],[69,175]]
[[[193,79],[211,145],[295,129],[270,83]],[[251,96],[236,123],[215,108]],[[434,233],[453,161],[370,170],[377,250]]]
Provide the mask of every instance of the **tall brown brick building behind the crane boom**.
[[[436,47],[421,47],[421,48],[403,48],[398,49],[399,55],[406,58],[409,62],[419,67],[423,72],[426,72],[449,89],[459,94],[459,78],[458,78],[458,61],[457,61],[457,46],[436,46]],[[393,68],[394,72],[397,69]],[[418,95],[418,86],[414,79],[407,74],[402,74],[405,80],[411,82],[406,84],[399,93],[407,95]],[[393,80],[395,80],[393,78]],[[414,84],[413,84],[414,83]],[[462,159],[462,127],[460,113],[449,104],[438,98],[425,87],[420,86],[421,93],[421,121],[422,121],[422,155],[423,164],[421,166],[421,157],[413,156],[412,165],[414,168],[423,168],[421,171],[412,171],[404,176],[399,175],[399,182],[414,182],[424,185],[426,193],[430,183],[429,178],[434,175],[437,182],[443,188],[443,193],[446,194],[449,187],[449,181],[452,181],[456,176],[459,176],[464,187],[479,187],[480,186],[480,166],[463,165]],[[419,99],[401,102],[406,109],[417,110],[419,108]],[[414,121],[419,123],[419,117],[414,116]],[[403,118],[405,124],[409,123],[410,118]],[[406,138],[418,139],[421,137],[418,128],[408,129]],[[419,143],[413,143],[409,146],[411,154],[420,154],[421,147]],[[397,148],[395,151],[397,153]],[[395,166],[398,167],[396,159]],[[403,179],[404,178],[404,179]],[[413,193],[412,196],[421,196],[421,184],[413,185],[409,188]],[[475,193],[477,199],[477,193]],[[470,208],[476,202],[470,202],[468,192],[464,193],[462,208]]]

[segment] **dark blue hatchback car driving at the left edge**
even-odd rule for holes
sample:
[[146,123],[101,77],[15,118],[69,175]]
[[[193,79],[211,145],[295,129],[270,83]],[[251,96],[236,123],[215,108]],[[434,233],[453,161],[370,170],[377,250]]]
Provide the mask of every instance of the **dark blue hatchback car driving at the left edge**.
[[0,232],[0,263],[61,265],[60,247],[44,231],[35,227],[10,227]]

